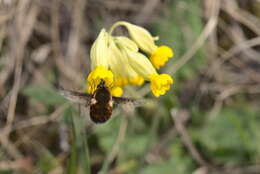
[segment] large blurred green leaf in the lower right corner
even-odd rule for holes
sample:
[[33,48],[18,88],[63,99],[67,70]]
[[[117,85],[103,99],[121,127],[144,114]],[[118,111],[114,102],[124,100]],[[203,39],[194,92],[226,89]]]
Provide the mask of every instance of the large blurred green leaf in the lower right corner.
[[259,155],[260,120],[252,108],[223,109],[195,135],[204,152],[219,162],[243,163]]

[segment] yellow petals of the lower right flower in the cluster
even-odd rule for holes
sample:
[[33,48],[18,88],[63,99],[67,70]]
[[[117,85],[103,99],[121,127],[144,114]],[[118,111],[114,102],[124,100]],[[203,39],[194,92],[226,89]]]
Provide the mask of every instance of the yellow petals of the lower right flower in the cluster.
[[164,95],[170,89],[170,85],[173,84],[173,79],[168,74],[152,74],[150,81],[151,91],[156,97]]

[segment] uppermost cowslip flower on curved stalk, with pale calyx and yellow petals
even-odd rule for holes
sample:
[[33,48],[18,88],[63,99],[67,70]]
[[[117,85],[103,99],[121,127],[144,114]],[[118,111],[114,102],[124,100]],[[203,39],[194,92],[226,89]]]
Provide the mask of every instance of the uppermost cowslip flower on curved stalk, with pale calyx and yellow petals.
[[150,60],[156,69],[164,66],[169,58],[174,56],[172,49],[168,46],[157,46],[155,41],[158,37],[153,37],[148,30],[143,27],[119,21],[114,24],[114,27],[125,26],[129,32],[131,39],[138,45],[138,47],[150,56]]

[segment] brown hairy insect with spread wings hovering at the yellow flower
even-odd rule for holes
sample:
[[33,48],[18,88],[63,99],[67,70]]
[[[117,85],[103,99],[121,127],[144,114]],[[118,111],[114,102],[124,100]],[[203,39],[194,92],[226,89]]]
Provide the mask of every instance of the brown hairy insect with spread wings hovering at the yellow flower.
[[90,118],[95,123],[104,123],[112,115],[113,103],[116,104],[137,104],[139,100],[134,98],[114,97],[111,95],[105,81],[101,79],[97,89],[93,94],[81,93],[76,91],[65,90],[59,87],[62,96],[72,101],[90,107]]

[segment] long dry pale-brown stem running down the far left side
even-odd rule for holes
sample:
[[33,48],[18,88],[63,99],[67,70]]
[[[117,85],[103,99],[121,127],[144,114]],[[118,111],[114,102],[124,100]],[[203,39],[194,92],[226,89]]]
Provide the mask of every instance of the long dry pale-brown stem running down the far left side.
[[31,9],[29,10],[28,14],[25,14],[28,10],[25,10],[28,8],[30,1],[19,1],[18,7],[20,7],[20,11],[18,10],[18,18],[16,24],[17,24],[17,31],[18,28],[23,28],[23,31],[19,35],[19,39],[17,42],[17,38],[14,41],[18,43],[16,52],[15,52],[15,59],[16,59],[16,65],[15,65],[15,76],[14,76],[14,85],[11,92],[10,102],[9,102],[9,108],[8,108],[8,115],[7,115],[7,123],[6,126],[3,129],[2,135],[0,137],[0,141],[2,145],[8,150],[8,152],[14,157],[14,158],[21,158],[21,154],[19,151],[15,148],[14,145],[9,143],[8,137],[9,133],[12,128],[12,123],[15,118],[15,110],[16,110],[16,103],[17,103],[17,96],[19,93],[20,83],[21,83],[21,76],[22,76],[22,64],[24,59],[24,48],[26,46],[26,43],[29,40],[29,37],[32,33],[34,23],[36,21],[36,18],[39,13],[39,9],[36,5],[33,5]]

